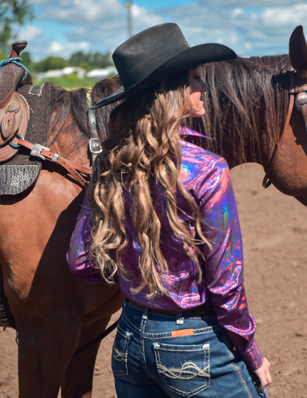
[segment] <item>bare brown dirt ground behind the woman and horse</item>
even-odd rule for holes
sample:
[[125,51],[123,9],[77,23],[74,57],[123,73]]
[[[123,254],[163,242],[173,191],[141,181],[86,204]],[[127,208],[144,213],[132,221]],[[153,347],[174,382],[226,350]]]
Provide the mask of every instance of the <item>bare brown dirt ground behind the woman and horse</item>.
[[[240,166],[231,174],[242,228],[249,308],[258,325],[258,344],[271,363],[269,396],[306,398],[307,209],[272,186],[263,189],[260,166]],[[116,397],[110,369],[114,335],[115,331],[100,346],[93,398]],[[17,350],[14,330],[1,330],[1,398],[18,396]]]

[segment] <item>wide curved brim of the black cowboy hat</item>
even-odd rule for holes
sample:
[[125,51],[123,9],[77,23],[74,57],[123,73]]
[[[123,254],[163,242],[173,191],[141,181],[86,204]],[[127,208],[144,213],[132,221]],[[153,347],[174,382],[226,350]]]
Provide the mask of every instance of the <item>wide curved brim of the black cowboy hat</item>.
[[108,103],[122,100],[127,96],[140,92],[141,90],[144,90],[145,88],[148,88],[165,78],[182,72],[183,70],[188,70],[189,68],[209,62],[230,60],[235,58],[236,53],[234,53],[234,51],[232,51],[229,47],[222,44],[207,43],[189,47],[163,62],[136,84],[126,89],[124,86],[120,86],[120,88],[118,88],[108,97],[104,98],[104,100],[100,101],[96,105],[92,105],[89,107],[89,109],[96,109],[107,105]]

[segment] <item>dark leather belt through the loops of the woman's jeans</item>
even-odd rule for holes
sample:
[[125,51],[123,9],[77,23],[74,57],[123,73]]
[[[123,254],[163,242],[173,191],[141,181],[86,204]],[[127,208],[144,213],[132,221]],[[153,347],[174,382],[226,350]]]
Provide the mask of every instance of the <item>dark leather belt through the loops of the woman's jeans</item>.
[[[126,303],[129,304],[130,306],[141,310],[141,311],[145,311],[146,307],[125,299]],[[180,312],[180,311],[178,311]],[[155,315],[162,315],[162,316],[168,316],[170,318],[177,318],[177,314],[178,312],[176,311],[166,311],[166,310],[157,310],[157,309],[153,309],[153,308],[148,308],[148,313],[149,314],[155,314]],[[216,313],[215,310],[213,308],[213,305],[211,302],[202,304],[198,307],[195,308],[189,308],[187,310],[183,310],[182,312],[182,317],[183,318],[193,318],[195,316],[200,316],[201,318],[212,318],[212,317],[216,317]]]

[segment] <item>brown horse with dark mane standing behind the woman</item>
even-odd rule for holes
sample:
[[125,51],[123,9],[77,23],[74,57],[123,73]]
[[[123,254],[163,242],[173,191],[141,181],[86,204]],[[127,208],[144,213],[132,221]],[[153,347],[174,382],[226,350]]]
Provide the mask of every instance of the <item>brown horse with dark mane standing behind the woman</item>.
[[[290,57],[302,78],[306,54],[298,27],[291,36]],[[200,144],[222,154],[230,167],[258,162],[268,170],[287,117],[290,68],[287,56],[204,66],[211,86],[206,115],[198,125],[187,121],[214,138]],[[99,82],[92,100],[97,103],[118,85],[118,78]],[[91,134],[86,94],[85,89],[52,88],[47,141],[52,152],[83,165],[89,163]],[[109,112],[96,111],[102,139]],[[291,113],[269,177],[280,191],[307,205],[307,135],[302,115],[295,108]],[[117,286],[90,285],[68,270],[65,255],[82,198],[81,187],[47,161],[28,195],[0,198],[0,263],[18,331],[20,398],[55,398],[60,386],[62,397],[91,397],[99,343],[73,353],[100,334],[122,304]]]

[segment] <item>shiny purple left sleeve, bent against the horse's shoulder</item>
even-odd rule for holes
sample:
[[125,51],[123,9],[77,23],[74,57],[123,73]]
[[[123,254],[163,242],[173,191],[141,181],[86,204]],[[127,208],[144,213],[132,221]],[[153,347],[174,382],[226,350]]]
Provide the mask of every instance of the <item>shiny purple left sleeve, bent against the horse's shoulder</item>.
[[81,277],[84,281],[98,283],[103,280],[100,269],[94,267],[89,256],[92,228],[91,211],[86,193],[66,258],[69,269],[74,275]]

